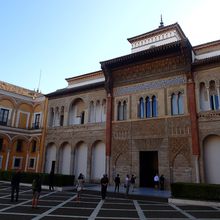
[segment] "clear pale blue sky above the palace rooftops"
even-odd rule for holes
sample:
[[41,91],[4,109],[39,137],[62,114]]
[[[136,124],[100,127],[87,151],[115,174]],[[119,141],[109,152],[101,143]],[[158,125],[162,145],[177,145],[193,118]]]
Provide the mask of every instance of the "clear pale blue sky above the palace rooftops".
[[127,38],[178,22],[193,46],[220,39],[219,0],[0,0],[0,80],[46,94],[129,54]]

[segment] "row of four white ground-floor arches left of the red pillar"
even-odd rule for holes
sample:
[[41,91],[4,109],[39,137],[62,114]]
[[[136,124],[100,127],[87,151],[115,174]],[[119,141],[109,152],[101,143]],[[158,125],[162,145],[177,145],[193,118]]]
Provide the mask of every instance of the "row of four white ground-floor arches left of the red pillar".
[[[90,147],[82,141],[73,147],[68,142],[60,147],[49,143],[46,149],[45,172],[47,173],[54,168],[54,171],[60,174],[78,176],[83,173],[87,179],[95,181],[99,180],[106,171],[105,144],[102,141],[96,141]],[[91,156],[88,152],[91,152]]]

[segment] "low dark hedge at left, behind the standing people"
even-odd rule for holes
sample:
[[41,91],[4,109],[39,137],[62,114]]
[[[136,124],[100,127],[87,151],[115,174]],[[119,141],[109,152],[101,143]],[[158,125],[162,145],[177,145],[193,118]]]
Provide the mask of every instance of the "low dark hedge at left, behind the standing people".
[[[0,171],[0,180],[11,181],[13,171]],[[32,183],[35,176],[39,174],[43,185],[48,185],[49,174],[48,173],[29,173],[21,172],[21,183]],[[73,175],[61,175],[54,174],[54,186],[73,186]]]

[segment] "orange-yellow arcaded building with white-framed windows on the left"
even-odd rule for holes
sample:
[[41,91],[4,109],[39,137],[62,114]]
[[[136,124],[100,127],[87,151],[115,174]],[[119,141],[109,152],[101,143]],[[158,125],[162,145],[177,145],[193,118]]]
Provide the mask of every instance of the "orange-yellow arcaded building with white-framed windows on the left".
[[41,172],[46,98],[0,81],[0,169]]

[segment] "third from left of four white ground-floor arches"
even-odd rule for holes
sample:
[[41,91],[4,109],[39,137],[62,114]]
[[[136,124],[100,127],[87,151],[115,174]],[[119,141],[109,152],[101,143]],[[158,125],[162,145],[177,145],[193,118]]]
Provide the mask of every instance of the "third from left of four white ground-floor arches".
[[87,173],[87,155],[88,147],[84,142],[79,143],[75,149],[74,174],[76,178],[82,173],[86,177]]

